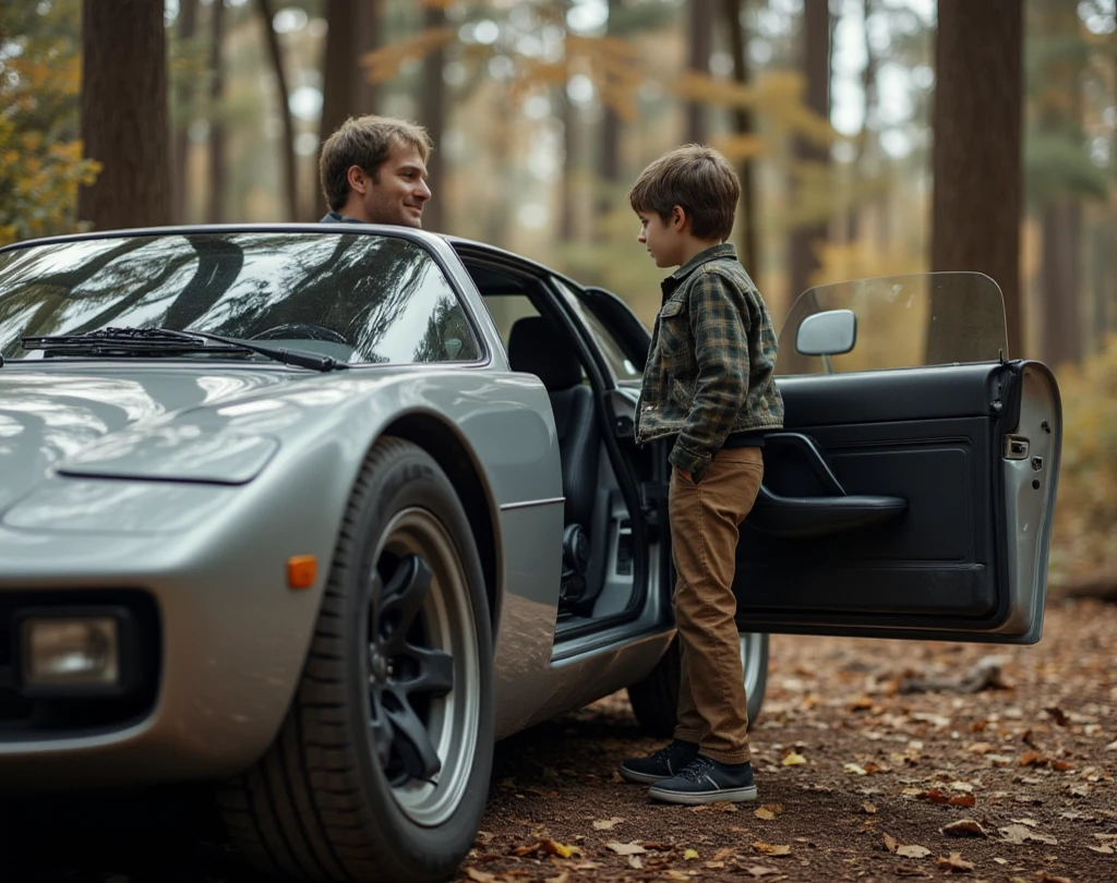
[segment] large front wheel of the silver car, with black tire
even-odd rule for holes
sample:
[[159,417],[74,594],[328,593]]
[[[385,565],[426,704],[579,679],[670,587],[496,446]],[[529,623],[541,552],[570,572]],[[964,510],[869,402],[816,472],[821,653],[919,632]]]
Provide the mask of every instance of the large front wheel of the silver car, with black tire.
[[269,875],[445,880],[485,810],[493,707],[465,510],[429,454],[382,439],[353,488],[295,700],[268,752],[222,791],[226,826]]

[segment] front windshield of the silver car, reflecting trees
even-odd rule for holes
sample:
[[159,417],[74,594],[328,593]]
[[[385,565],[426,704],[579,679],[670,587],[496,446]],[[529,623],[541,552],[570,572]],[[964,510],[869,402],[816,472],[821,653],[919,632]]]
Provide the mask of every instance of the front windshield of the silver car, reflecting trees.
[[0,253],[4,358],[42,357],[21,337],[107,327],[194,329],[356,363],[480,357],[431,256],[393,237],[187,232]]

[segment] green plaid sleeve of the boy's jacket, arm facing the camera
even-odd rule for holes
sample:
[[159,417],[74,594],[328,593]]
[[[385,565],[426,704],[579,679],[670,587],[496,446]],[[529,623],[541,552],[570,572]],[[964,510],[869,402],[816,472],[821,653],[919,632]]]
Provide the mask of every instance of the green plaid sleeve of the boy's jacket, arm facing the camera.
[[698,378],[695,399],[669,460],[696,481],[725,443],[748,396],[748,307],[737,286],[703,272],[690,292],[690,332]]

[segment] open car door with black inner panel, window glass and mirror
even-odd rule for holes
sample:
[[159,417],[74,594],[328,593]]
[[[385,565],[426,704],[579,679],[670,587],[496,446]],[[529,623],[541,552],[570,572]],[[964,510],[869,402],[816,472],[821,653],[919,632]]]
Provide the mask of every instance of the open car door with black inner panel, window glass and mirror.
[[992,279],[813,288],[777,383],[785,428],[737,548],[743,630],[1039,640],[1061,406],[1046,365],[1008,361]]

